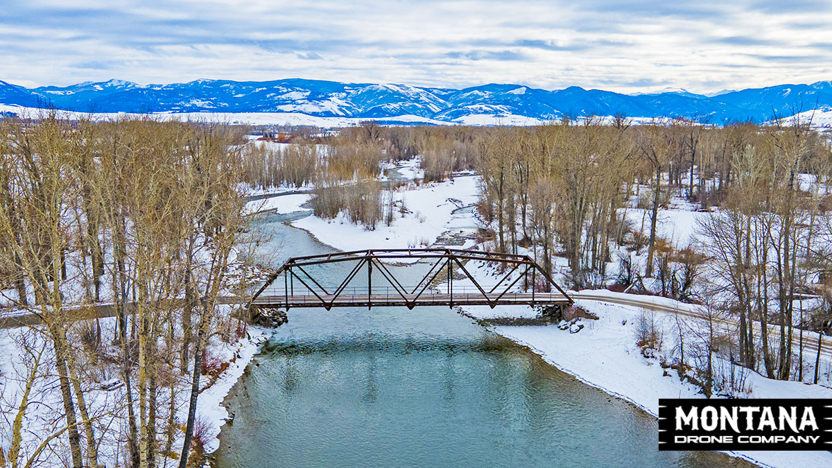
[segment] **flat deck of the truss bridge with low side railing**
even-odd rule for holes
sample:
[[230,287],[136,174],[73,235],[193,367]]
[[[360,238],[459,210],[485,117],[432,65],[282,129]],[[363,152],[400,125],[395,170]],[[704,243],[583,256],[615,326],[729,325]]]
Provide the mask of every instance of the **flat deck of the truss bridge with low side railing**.
[[568,306],[572,301],[561,293],[550,292],[508,292],[501,297],[498,293],[438,293],[417,294],[320,294],[320,296],[258,296],[252,302],[257,306],[281,308],[295,307],[393,307],[393,306]]

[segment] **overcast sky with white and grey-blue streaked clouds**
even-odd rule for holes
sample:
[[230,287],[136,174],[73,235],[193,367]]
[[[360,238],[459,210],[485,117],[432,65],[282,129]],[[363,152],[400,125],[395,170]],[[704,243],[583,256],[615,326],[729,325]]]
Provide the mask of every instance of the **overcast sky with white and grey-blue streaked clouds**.
[[3,81],[286,77],[617,92],[832,80],[832,0],[0,5]]

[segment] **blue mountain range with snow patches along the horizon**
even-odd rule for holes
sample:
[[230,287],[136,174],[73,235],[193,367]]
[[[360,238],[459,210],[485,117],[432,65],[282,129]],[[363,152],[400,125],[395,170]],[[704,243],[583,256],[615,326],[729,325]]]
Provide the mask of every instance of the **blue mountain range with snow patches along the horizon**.
[[689,117],[700,122],[765,122],[832,109],[832,82],[784,84],[705,96],[685,90],[621,94],[572,86],[547,91],[515,84],[463,89],[290,78],[267,82],[200,79],[166,85],[82,82],[27,88],[0,81],[0,104],[75,112],[293,112],[314,117],[466,122],[471,117],[542,121],[585,115]]

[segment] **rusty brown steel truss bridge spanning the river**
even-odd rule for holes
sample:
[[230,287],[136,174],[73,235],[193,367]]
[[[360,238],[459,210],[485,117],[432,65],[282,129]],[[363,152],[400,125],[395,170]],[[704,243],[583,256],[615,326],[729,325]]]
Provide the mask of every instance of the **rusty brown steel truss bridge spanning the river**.
[[[409,266],[391,268],[390,263]],[[498,271],[493,280],[488,276],[489,283],[496,282],[486,286],[473,276],[467,266],[477,263]],[[417,265],[424,268],[426,264],[428,271],[415,284],[404,279],[403,276],[412,275],[403,275],[403,270],[416,269]],[[354,306],[549,307],[570,306],[572,298],[526,255],[440,248],[373,249],[290,258],[255,292],[249,305],[287,310]]]

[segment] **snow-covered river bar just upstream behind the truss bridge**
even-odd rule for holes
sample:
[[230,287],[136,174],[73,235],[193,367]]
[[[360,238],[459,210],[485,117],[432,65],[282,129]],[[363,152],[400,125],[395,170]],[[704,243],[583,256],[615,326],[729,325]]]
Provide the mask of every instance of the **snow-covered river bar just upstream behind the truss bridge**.
[[[478,177],[456,177],[453,181],[412,186],[394,192],[410,211],[401,217],[398,212],[391,226],[379,222],[374,231],[367,231],[339,214],[333,220],[305,217],[292,223],[319,241],[342,251],[375,248],[412,248],[428,246],[443,232],[448,231],[453,211],[477,202]],[[456,199],[455,203],[450,199]]]

